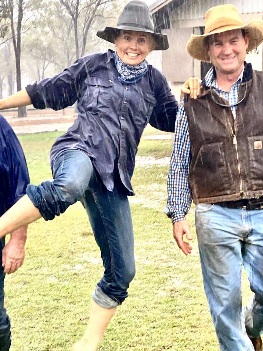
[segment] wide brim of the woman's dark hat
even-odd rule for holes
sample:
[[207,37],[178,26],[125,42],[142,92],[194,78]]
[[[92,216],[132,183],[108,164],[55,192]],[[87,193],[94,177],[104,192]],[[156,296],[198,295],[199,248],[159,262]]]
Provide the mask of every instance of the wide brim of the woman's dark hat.
[[121,30],[150,33],[153,36],[156,44],[153,50],[167,50],[169,48],[167,34],[155,33],[150,30],[139,28],[139,27],[130,27],[130,26],[123,26],[123,27],[119,26],[117,28],[105,27],[104,29],[100,29],[99,31],[97,31],[97,37],[114,44],[114,41],[120,34]]

